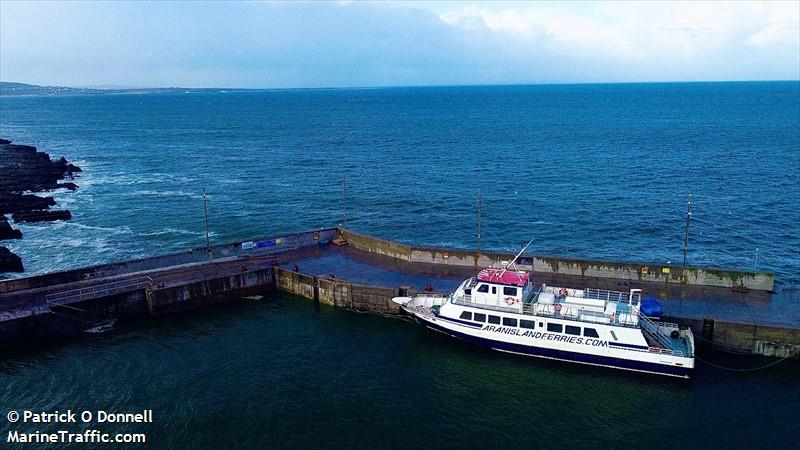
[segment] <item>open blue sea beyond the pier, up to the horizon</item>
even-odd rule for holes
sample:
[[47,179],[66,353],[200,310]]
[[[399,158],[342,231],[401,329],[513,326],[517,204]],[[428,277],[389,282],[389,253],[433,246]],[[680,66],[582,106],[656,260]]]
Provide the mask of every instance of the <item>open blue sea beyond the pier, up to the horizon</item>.
[[[329,227],[431,246],[758,268],[800,283],[800,83],[0,98],[84,169],[28,273]],[[346,183],[346,189],[343,184]],[[346,194],[345,194],[346,193]]]

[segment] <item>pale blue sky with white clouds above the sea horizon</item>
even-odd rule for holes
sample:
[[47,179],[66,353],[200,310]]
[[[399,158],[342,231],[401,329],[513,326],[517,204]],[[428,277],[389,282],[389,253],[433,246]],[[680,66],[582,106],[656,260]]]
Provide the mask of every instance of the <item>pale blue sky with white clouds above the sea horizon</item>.
[[0,0],[0,80],[312,88],[800,79],[800,1]]

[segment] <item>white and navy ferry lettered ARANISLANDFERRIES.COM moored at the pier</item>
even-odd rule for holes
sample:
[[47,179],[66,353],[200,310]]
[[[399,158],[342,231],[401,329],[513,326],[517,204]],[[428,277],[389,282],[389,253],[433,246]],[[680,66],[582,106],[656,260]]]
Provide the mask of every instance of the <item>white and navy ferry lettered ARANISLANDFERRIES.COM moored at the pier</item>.
[[535,286],[516,259],[481,270],[450,295],[393,301],[432,330],[495,350],[689,378],[691,330],[642,314],[641,289]]

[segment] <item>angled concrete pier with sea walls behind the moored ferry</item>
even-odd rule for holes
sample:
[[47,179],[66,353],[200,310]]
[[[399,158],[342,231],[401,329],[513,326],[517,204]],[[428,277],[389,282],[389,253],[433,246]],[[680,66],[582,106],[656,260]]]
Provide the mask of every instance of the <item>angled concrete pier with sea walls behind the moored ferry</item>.
[[[337,236],[348,245],[333,245]],[[427,283],[449,292],[474,274],[476,262],[483,267],[512,257],[411,247],[330,228],[221,245],[211,252],[193,249],[4,280],[0,348],[69,336],[103,321],[175,313],[271,290],[332,307],[398,314],[392,297]],[[769,273],[691,268],[683,275],[694,275],[676,278],[671,267],[668,276],[656,276],[651,270],[664,267],[531,255],[521,266],[532,270],[537,283],[641,288],[662,302],[670,320],[714,346],[800,357],[800,300],[771,292]]]

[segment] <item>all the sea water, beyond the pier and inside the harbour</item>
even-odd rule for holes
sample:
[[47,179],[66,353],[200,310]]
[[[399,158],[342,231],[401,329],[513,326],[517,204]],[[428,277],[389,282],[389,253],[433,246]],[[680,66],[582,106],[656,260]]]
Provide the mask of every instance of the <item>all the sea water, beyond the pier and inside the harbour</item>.
[[[71,221],[7,241],[26,274],[204,246],[204,188],[216,243],[346,210],[474,248],[480,190],[484,249],[676,263],[691,194],[691,265],[800,284],[798,82],[0,97],[0,137],[84,169],[53,193]],[[676,381],[270,293],[4,358],[0,418],[150,408],[102,431],[154,448],[791,448],[797,362],[709,357]]]

